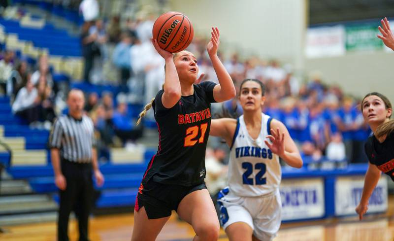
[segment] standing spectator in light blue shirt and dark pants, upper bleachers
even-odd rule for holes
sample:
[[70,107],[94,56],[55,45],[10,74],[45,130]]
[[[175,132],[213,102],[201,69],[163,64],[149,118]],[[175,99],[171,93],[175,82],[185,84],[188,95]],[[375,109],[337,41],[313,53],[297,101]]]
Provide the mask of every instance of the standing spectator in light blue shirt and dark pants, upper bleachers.
[[123,92],[129,92],[127,82],[131,77],[131,53],[134,33],[123,32],[121,41],[116,45],[112,53],[112,62],[120,69],[121,88]]

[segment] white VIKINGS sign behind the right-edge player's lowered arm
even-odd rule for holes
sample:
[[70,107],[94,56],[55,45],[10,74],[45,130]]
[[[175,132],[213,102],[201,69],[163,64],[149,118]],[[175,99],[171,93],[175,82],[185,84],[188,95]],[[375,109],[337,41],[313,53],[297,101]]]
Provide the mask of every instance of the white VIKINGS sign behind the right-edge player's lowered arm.
[[[360,202],[364,176],[338,177],[335,182],[335,215],[356,215]],[[388,207],[386,176],[382,176],[369,199],[367,213],[384,212]]]

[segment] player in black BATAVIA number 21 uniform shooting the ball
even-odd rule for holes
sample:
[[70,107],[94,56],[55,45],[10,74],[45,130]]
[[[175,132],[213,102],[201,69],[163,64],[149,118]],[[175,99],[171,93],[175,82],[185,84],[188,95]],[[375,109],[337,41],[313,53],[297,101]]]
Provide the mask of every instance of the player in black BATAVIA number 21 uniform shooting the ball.
[[211,103],[234,98],[235,87],[217,56],[219,30],[212,28],[211,35],[206,49],[220,84],[205,81],[194,85],[196,57],[189,51],[171,54],[152,40],[165,59],[164,89],[145,106],[140,119],[152,106],[159,147],[137,193],[132,241],[155,240],[171,210],[193,226],[195,241],[219,238],[219,220],[204,182],[205,149]]

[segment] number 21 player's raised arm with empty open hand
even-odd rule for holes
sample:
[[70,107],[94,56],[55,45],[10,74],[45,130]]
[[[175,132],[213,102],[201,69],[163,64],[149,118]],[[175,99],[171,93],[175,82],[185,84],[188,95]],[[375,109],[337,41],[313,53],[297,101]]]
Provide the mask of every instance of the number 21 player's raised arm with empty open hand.
[[219,48],[219,29],[213,28],[211,31],[211,39],[206,46],[209,58],[212,61],[213,69],[215,69],[216,75],[218,76],[219,84],[213,89],[213,98],[217,102],[228,101],[235,97],[235,87],[232,83],[230,74],[220,61],[217,52]]

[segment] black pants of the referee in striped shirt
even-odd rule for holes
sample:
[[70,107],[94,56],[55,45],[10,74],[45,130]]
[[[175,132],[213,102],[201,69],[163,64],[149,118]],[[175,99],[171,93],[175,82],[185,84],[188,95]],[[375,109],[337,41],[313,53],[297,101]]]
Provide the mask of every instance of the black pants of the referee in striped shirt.
[[93,205],[92,165],[62,160],[66,190],[59,191],[58,241],[68,241],[68,218],[74,210],[78,219],[79,241],[88,241],[88,218]]

